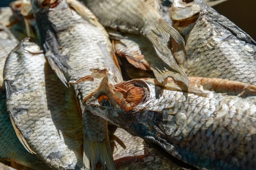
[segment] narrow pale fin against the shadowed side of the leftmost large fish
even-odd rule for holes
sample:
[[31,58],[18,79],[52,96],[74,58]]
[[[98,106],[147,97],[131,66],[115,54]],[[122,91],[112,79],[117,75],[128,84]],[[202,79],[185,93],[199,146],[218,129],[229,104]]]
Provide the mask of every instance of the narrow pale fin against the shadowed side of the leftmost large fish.
[[49,65],[55,71],[55,73],[57,74],[59,79],[62,81],[62,83],[66,87],[68,87],[67,80],[66,80],[66,77],[64,75],[64,72],[60,69],[60,67],[58,66],[57,62],[55,61],[56,57],[54,56],[54,54],[51,51],[47,51],[45,53],[45,57],[47,58]]

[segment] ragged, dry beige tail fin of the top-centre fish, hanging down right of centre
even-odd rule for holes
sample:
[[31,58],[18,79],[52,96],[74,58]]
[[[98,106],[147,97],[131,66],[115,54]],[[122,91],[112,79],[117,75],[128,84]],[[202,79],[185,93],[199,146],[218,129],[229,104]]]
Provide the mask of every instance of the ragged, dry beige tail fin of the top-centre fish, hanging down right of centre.
[[[158,26],[147,34],[152,42],[157,55],[171,67],[169,76],[177,81],[182,81],[185,85],[189,85],[189,79],[182,68],[187,67],[187,55],[185,51],[185,42],[183,37],[170,24],[164,20],[159,20]],[[174,41],[173,41],[173,40]],[[171,51],[172,45],[175,44],[177,51]],[[179,46],[177,46],[177,44]],[[173,55],[174,54],[174,55]],[[166,74],[159,74],[159,76]],[[163,78],[161,78],[163,79]]]

